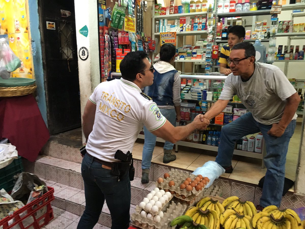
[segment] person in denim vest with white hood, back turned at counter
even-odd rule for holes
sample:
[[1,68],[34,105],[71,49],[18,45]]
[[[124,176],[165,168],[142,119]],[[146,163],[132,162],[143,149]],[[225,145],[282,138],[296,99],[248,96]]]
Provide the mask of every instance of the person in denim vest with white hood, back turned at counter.
[[[144,88],[144,93],[152,98],[160,108],[162,115],[172,124],[180,122],[180,88],[181,81],[178,71],[173,64],[176,56],[176,48],[172,44],[164,44],[160,49],[160,61],[154,64],[154,80],[151,86]],[[142,180],[143,184],[149,182],[149,168],[152,160],[152,152],[156,145],[156,136],[144,127],[144,147],[142,152]],[[165,141],[163,147],[163,163],[176,160],[172,154],[174,144]]]

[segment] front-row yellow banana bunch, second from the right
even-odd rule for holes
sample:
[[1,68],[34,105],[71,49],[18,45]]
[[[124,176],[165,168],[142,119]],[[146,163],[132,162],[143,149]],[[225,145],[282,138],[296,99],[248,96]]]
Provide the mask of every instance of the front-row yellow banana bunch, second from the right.
[[242,215],[236,212],[234,209],[226,209],[220,215],[220,224],[224,229],[236,229],[236,228],[246,228],[252,229],[251,216]]

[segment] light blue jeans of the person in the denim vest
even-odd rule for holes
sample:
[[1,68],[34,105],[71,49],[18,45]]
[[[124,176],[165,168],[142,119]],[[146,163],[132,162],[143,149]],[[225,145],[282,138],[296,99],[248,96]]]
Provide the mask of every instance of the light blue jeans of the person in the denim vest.
[[[162,109],[160,108],[161,114],[173,125],[176,126],[176,110],[175,109]],[[142,152],[142,169],[149,169],[152,152],[156,146],[157,136],[150,133],[144,126],[144,146]],[[165,141],[163,149],[172,150],[174,144],[168,141]]]

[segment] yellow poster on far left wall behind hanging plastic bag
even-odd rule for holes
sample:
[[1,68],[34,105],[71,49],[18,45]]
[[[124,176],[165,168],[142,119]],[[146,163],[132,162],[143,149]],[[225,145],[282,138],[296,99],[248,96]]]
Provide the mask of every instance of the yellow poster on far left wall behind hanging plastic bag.
[[0,36],[8,39],[9,47],[21,61],[13,77],[33,78],[25,0],[0,1],[0,24]]

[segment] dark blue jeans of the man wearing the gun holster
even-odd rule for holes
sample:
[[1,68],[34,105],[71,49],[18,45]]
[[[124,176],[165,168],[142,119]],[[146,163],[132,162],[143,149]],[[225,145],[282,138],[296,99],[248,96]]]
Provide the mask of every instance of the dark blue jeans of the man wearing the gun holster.
[[105,199],[110,210],[111,229],[127,229],[130,215],[130,180],[128,173],[117,182],[110,169],[102,168],[99,162],[85,154],[81,164],[84,180],[86,208],[77,229],[91,229],[99,220]]

